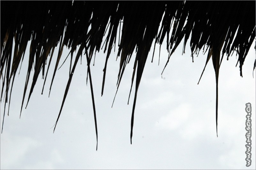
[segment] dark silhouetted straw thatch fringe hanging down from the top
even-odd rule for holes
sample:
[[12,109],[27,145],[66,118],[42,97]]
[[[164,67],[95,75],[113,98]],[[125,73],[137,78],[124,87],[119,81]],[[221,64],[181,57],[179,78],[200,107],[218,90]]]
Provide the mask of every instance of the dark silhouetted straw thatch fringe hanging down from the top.
[[[160,25],[161,21],[162,25]],[[122,28],[119,27],[121,22]],[[121,37],[118,34],[119,29],[122,32]],[[107,30],[109,31],[105,32]],[[107,38],[104,40],[105,33]],[[189,46],[192,59],[193,55],[201,49],[205,53],[208,52],[206,65],[212,57],[216,75],[217,128],[220,63],[224,54],[228,59],[235,52],[238,55],[237,63],[240,64],[240,76],[242,76],[245,57],[255,40],[255,1],[1,1],[0,69],[3,80],[1,99],[5,86],[4,102],[6,104],[9,99],[10,106],[14,78],[24,58],[28,41],[31,41],[31,45],[21,110],[27,89],[29,101],[40,72],[42,72],[42,78],[46,80],[55,47],[58,44],[60,46],[51,86],[60,65],[63,47],[67,46],[70,49],[72,58],[79,46],[74,64],[70,65],[70,76],[56,123],[61,114],[76,64],[85,50],[97,135],[90,73],[92,56],[104,46],[104,53],[107,52],[107,54],[102,81],[103,94],[107,62],[109,54],[113,51],[112,48],[115,50],[118,46],[117,56],[121,57],[117,88],[125,66],[136,50],[132,75],[133,85],[135,73],[137,74],[131,120],[132,143],[134,109],[143,69],[151,46],[153,43],[154,46],[158,43],[161,47],[165,36],[167,36],[166,49],[169,52],[168,61],[182,39],[184,39],[183,50],[185,50],[190,36]],[[12,53],[13,48],[14,53]],[[47,68],[45,68],[46,60],[49,60]],[[33,65],[34,75],[29,89],[28,82]]]

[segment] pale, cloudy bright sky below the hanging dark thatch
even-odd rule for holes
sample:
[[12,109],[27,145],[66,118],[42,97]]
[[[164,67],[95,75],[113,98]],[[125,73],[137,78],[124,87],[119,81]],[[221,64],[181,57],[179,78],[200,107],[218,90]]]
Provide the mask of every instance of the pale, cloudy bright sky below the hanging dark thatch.
[[[166,41],[165,41],[166,42]],[[215,72],[206,55],[190,57],[189,43],[182,55],[182,44],[171,56],[162,77],[168,53],[162,45],[153,48],[139,86],[135,107],[132,145],[130,128],[134,87],[128,96],[133,71],[132,60],[126,66],[115,103],[120,58],[117,51],[109,57],[104,94],[101,96],[106,54],[96,53],[91,66],[98,124],[98,151],[90,84],[86,86],[87,62],[78,64],[73,75],[62,114],[53,133],[66,83],[70,61],[57,71],[50,97],[49,87],[55,60],[41,95],[39,79],[27,109],[19,119],[26,81],[28,53],[20,75],[15,77],[10,115],[4,119],[1,134],[1,169],[255,169],[255,60],[254,43],[248,53],[243,78],[236,55],[224,57],[219,75],[218,138],[215,123]],[[154,46],[153,46],[154,47]],[[117,49],[117,47],[116,47]],[[55,50],[57,51],[57,50]],[[26,50],[28,52],[28,50]],[[65,50],[61,64],[68,54]],[[56,55],[55,55],[56,57]],[[70,58],[69,58],[70,59]],[[80,62],[80,60],[79,60]],[[32,72],[34,74],[34,71]],[[32,77],[30,85],[32,82]],[[2,79],[1,79],[2,83]],[[30,86],[29,86],[30,88]],[[252,165],[246,167],[245,103],[252,103]],[[1,128],[4,101],[1,103]]]

